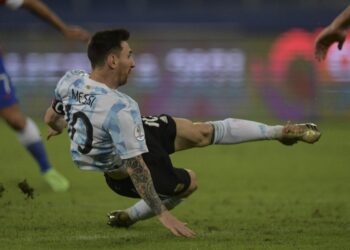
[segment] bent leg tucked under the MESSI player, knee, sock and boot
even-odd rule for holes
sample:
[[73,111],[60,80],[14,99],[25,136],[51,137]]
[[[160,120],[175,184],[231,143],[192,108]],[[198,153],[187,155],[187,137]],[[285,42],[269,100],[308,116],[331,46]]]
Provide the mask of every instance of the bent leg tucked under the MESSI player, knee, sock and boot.
[[[184,198],[189,197],[194,191],[197,190],[197,180],[195,173],[191,170],[176,169],[177,171],[186,171],[189,176],[190,184],[188,187],[180,193],[174,194],[173,196],[160,195],[163,199],[162,202],[164,206],[171,210],[179,205]],[[181,173],[183,174],[183,173]],[[178,186],[179,187],[179,186]],[[156,186],[156,189],[159,187]],[[176,190],[174,190],[176,192]],[[108,214],[107,224],[112,227],[129,227],[135,224],[137,221],[146,220],[154,217],[152,209],[147,205],[147,203],[141,199],[136,202],[133,206],[125,210],[116,210]]]

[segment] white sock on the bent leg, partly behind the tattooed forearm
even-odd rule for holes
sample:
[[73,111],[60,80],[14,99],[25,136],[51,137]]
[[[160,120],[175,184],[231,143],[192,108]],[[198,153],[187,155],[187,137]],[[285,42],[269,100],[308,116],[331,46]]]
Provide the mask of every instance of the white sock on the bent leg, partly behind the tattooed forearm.
[[[171,197],[162,201],[163,205],[171,210],[181,203],[182,199],[178,197]],[[154,216],[152,209],[144,200],[139,200],[133,206],[126,209],[129,218],[132,221],[145,220]]]

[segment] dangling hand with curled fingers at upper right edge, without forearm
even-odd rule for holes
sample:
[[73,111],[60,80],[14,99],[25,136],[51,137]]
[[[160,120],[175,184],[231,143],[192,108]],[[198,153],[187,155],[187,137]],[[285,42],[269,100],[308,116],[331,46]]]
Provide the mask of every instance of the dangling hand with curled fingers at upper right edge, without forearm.
[[338,42],[338,49],[343,48],[346,39],[346,31],[343,29],[333,29],[331,26],[326,27],[315,40],[315,58],[322,61],[326,58],[330,46]]

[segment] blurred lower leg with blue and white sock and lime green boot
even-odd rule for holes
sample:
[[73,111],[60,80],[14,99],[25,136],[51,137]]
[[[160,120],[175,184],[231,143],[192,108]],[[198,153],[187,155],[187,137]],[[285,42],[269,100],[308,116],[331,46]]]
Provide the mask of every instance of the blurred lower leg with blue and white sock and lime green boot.
[[48,161],[39,130],[32,119],[21,112],[18,104],[0,108],[0,116],[16,131],[19,142],[28,150],[39,165],[45,181],[54,191],[65,191],[68,180],[53,169]]

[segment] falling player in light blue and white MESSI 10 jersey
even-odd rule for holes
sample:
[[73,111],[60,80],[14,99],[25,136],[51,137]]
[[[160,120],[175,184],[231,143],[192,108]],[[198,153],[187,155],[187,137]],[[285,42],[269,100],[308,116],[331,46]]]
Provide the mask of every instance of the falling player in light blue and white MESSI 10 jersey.
[[169,155],[176,151],[256,140],[292,145],[320,138],[311,123],[268,126],[233,118],[196,123],[165,114],[141,117],[136,101],[118,90],[135,67],[128,39],[124,29],[97,32],[88,46],[92,72],[68,71],[45,115],[48,138],[68,128],[71,156],[80,169],[102,171],[114,192],[140,199],[111,212],[109,225],[128,227],[158,216],[174,235],[195,235],[169,212],[197,189],[193,171],[173,166]]

